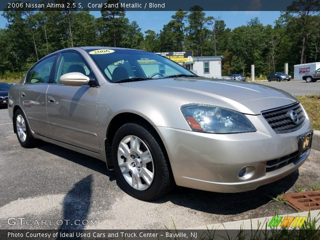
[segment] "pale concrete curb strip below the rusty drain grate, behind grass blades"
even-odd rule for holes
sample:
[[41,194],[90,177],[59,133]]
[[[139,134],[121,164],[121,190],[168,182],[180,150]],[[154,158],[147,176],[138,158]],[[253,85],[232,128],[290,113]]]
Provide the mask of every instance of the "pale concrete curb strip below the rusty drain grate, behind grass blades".
[[[279,216],[308,216],[309,211],[302,211],[292,214],[284,214]],[[320,210],[311,210],[310,211],[311,219],[320,219]],[[251,229],[265,229],[265,224],[269,223],[273,216],[267,216],[267,217],[259,217],[259,218],[251,218],[251,219],[245,219],[245,220],[238,220],[238,221],[228,221],[228,222],[222,222],[222,223],[215,223],[215,224],[208,224],[204,226],[198,226],[198,227],[192,227],[192,228],[186,228],[186,229],[193,229],[193,230],[226,230],[226,229],[235,229],[235,230],[251,230]],[[316,227],[320,226],[320,221],[316,223]],[[279,228],[279,227],[278,227]],[[270,227],[267,227],[267,229],[270,229]]]

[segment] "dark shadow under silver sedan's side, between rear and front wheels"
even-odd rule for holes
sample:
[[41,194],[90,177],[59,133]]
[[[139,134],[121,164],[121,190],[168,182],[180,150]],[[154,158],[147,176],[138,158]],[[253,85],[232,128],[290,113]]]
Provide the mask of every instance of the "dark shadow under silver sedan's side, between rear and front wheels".
[[109,171],[105,162],[99,159],[44,141],[40,141],[37,148],[102,173],[108,176],[110,181],[115,180],[113,171]]

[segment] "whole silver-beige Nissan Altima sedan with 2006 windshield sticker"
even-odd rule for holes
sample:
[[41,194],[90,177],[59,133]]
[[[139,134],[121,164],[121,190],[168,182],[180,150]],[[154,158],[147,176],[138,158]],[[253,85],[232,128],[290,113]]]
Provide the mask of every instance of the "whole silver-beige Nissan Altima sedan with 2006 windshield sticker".
[[296,170],[312,138],[305,110],[284,91],[124,48],[43,57],[10,88],[8,111],[22,147],[42,139],[103,160],[142,200],[175,184],[255,189]]

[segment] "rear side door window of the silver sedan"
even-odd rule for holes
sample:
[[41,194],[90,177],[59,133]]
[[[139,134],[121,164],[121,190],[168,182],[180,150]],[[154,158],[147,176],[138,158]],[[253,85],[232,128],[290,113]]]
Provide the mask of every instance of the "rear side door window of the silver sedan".
[[50,79],[50,72],[52,69],[52,65],[54,63],[56,55],[49,56],[44,60],[37,63],[28,78],[26,79],[26,83],[48,83]]

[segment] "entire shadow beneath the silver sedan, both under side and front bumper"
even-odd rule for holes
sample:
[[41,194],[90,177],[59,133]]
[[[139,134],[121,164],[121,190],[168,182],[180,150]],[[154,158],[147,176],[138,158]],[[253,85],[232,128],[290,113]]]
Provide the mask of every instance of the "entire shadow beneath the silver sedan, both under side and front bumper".
[[[70,160],[74,163],[80,164],[84,167],[90,168],[94,171],[100,172],[108,176],[110,181],[115,180],[114,172],[107,170],[105,163],[95,159],[94,157],[90,157],[47,142],[40,143],[38,148]],[[260,207],[268,203],[272,197],[275,197],[282,192],[286,192],[294,185],[298,176],[299,171],[295,170],[293,173],[283,177],[278,181],[260,186],[255,190],[238,193],[210,192],[176,186],[169,194],[152,202],[161,204],[169,201],[173,204],[187,207],[189,209],[213,214],[238,214]],[[117,181],[116,184],[119,186],[119,188],[124,190]]]

